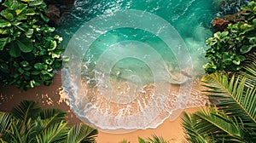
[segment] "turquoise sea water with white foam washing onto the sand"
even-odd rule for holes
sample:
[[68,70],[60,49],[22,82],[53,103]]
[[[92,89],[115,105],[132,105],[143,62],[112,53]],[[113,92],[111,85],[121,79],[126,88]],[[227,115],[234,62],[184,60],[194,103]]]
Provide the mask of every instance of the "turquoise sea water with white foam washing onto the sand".
[[191,90],[204,73],[218,4],[75,1],[58,29],[70,58],[62,77],[73,112],[99,129],[148,129],[175,118],[174,111],[204,105]]

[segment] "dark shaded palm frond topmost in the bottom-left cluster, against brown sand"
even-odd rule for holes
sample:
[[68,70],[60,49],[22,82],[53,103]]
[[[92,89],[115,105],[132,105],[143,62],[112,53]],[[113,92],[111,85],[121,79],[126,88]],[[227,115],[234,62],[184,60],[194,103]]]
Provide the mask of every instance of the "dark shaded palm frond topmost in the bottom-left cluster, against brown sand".
[[20,102],[20,105],[13,108],[11,114],[26,123],[30,117],[32,119],[37,118],[39,112],[41,112],[41,107],[37,102],[32,100],[23,100]]

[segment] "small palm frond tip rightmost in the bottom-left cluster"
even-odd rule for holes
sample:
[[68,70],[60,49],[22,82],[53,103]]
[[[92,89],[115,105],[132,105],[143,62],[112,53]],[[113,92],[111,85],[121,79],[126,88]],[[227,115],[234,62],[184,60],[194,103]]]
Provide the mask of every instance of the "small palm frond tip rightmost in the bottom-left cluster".
[[73,126],[67,134],[67,143],[79,143],[79,142],[95,142],[96,129],[90,128],[90,126],[79,123]]

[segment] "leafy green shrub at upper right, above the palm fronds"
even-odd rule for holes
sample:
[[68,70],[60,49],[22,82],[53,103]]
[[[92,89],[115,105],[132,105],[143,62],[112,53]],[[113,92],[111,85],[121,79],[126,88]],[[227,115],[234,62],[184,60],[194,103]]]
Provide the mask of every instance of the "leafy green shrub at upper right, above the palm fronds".
[[223,31],[217,31],[207,39],[206,58],[209,62],[204,66],[207,73],[235,72],[241,69],[246,54],[252,54],[256,48],[256,3],[250,2],[241,7],[244,21],[238,21]]

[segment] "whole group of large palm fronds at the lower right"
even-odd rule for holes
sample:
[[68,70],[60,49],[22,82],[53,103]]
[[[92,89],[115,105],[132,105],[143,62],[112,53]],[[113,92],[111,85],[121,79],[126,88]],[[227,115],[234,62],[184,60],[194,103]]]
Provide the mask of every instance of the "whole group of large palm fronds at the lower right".
[[214,73],[202,77],[212,105],[192,115],[184,114],[183,128],[190,142],[255,142],[256,53],[243,71],[231,77]]

